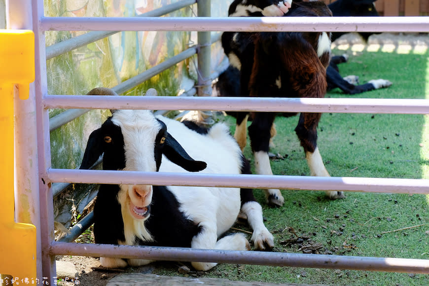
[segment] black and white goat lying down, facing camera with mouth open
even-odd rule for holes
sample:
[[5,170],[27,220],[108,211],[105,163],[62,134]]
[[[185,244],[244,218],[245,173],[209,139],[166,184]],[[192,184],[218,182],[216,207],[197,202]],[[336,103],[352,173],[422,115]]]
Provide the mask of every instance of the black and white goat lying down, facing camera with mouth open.
[[[89,94],[115,95],[106,88],[96,88]],[[183,124],[154,116],[149,110],[112,110],[112,116],[89,136],[80,169],[88,169],[102,154],[104,170],[250,172],[249,163],[225,124],[207,130],[192,122]],[[249,242],[243,234],[218,239],[234,224],[240,210],[253,229],[255,248],[272,248],[273,236],[263,223],[262,208],[251,189],[102,184],[94,206],[95,242],[248,250]],[[151,262],[107,257],[100,261],[104,267]],[[192,265],[197,270],[208,270],[216,263]]]

